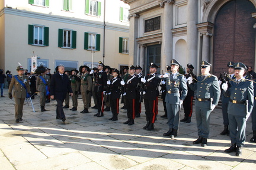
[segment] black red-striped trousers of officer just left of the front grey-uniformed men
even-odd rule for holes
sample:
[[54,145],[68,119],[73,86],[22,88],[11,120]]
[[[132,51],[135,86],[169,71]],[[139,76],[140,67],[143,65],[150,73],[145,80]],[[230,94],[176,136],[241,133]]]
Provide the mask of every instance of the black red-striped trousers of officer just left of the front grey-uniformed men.
[[146,110],[146,121],[155,123],[156,115],[158,115],[158,98],[155,100],[144,99]]

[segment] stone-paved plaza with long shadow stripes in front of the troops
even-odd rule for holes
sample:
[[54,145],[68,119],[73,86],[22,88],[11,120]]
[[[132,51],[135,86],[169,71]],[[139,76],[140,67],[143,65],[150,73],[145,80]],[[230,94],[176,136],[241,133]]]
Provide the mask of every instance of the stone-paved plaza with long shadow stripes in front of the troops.
[[[56,120],[56,101],[46,103],[46,112],[40,112],[39,97],[24,105],[23,121],[15,123],[14,99],[8,99],[4,89],[0,98],[0,169],[256,169],[256,143],[252,137],[251,118],[247,123],[247,142],[242,156],[225,153],[230,146],[229,136],[219,135],[223,130],[220,106],[211,115],[208,146],[193,145],[197,139],[196,119],[193,113],[191,123],[180,123],[175,139],[163,137],[168,131],[162,101],[155,130],[147,131],[145,108],[142,116],[135,119],[135,125],[124,125],[126,110],[120,109],[119,120],[94,117],[95,109],[89,113],[83,110],[79,95],[78,111],[64,109],[66,122]],[[93,100],[92,100],[93,101]],[[94,104],[92,103],[92,106]],[[120,104],[120,107],[123,104]],[[181,110],[181,118],[184,113]]]

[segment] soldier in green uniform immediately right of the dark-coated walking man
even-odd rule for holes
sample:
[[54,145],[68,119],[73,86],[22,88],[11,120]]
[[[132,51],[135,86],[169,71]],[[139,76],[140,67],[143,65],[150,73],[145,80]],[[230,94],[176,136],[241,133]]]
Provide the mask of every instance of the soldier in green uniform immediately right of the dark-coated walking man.
[[72,110],[72,111],[76,111],[78,106],[78,91],[80,89],[80,83],[81,83],[80,77],[76,76],[76,74],[78,73],[79,71],[76,69],[71,70],[70,79],[71,79],[71,89],[73,91],[73,96],[72,96],[73,107],[72,109],[69,109],[69,110]]

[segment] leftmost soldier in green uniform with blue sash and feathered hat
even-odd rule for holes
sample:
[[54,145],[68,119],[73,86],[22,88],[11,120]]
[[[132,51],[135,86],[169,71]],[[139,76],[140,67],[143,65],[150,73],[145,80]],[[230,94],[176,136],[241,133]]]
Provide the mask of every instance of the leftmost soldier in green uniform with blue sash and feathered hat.
[[28,77],[24,76],[23,66],[17,67],[18,75],[12,77],[11,83],[9,85],[9,99],[12,99],[12,88],[14,91],[14,100],[15,100],[15,122],[18,123],[23,116],[23,104],[25,98],[30,97],[30,86],[28,82]]

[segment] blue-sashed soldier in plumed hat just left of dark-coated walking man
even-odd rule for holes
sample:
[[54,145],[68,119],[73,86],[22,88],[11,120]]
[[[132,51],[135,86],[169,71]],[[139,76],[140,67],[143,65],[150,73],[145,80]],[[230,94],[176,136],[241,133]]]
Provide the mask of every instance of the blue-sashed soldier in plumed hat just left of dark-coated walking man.
[[40,94],[41,112],[44,112],[46,111],[46,109],[44,109],[46,103],[46,96],[50,94],[50,77],[46,75],[46,68],[44,68],[42,65],[37,67],[35,73],[38,75],[36,80],[36,89],[37,91],[39,91]]

